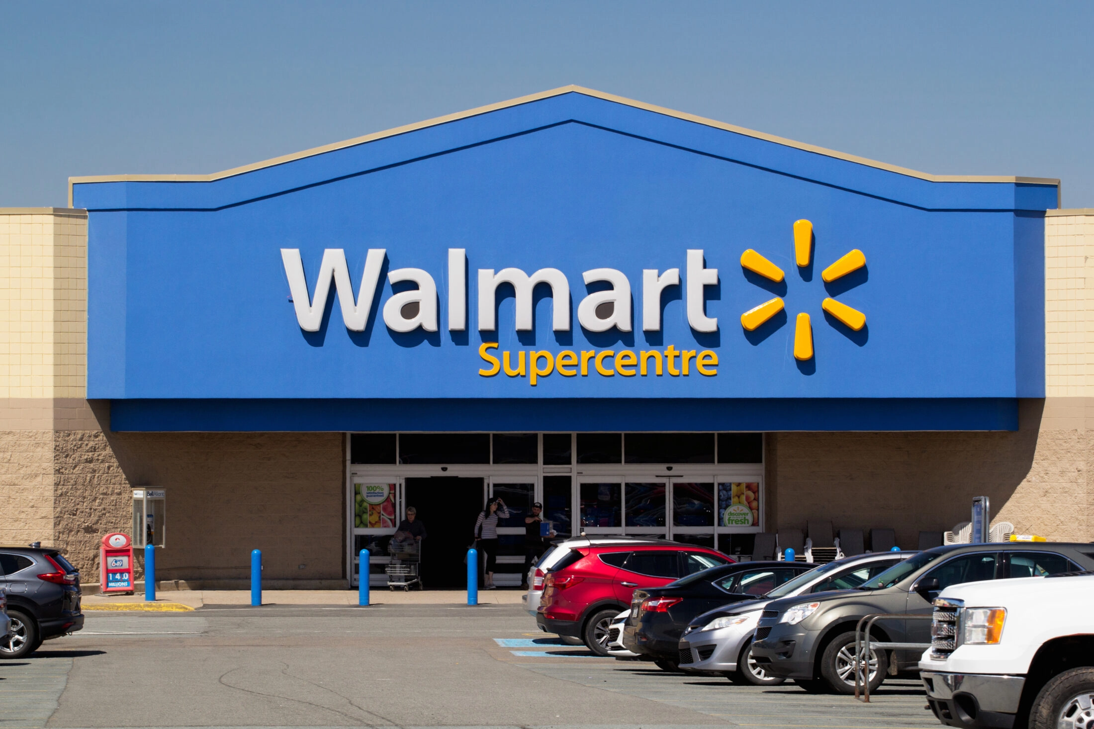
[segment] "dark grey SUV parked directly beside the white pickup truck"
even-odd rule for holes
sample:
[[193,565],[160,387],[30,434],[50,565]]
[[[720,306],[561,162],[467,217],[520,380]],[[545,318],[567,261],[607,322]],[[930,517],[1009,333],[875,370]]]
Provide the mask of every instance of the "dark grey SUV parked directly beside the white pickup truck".
[[[920,552],[854,591],[821,592],[768,603],[756,627],[753,659],[806,691],[854,692],[854,628],[871,613],[931,615],[951,585],[1094,569],[1094,544],[1005,542],[955,544]],[[931,643],[930,620],[878,620],[871,638]],[[886,673],[918,670],[924,648],[870,651],[870,687]],[[861,667],[858,668],[861,671]]]

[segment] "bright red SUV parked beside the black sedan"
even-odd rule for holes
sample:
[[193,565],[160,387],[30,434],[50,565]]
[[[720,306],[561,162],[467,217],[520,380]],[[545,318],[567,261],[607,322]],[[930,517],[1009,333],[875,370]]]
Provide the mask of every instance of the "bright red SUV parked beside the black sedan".
[[714,549],[664,540],[575,539],[558,548],[569,553],[547,572],[536,623],[547,633],[580,638],[598,656],[608,655],[608,627],[629,609],[635,590],[733,562]]

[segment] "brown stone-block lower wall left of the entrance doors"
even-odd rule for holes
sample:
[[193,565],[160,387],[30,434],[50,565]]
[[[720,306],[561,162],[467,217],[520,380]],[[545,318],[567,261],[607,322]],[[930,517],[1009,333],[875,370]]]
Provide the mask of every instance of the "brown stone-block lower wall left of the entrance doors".
[[98,540],[131,532],[131,489],[155,486],[167,490],[160,579],[243,580],[258,548],[264,579],[338,580],[344,441],[341,433],[58,431],[56,543],[97,579]]

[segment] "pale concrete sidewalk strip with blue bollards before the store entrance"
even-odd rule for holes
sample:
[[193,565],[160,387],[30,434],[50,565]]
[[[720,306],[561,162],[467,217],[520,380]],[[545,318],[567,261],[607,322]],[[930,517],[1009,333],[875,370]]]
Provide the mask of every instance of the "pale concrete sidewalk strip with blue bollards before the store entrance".
[[[479,604],[522,604],[524,590],[480,590]],[[171,590],[156,592],[155,603],[144,603],[143,591],[136,594],[85,594],[81,604],[84,610],[119,610],[132,605],[132,610],[197,609],[202,605],[248,605],[249,590]],[[372,588],[369,602],[373,605],[452,605],[467,604],[464,590],[412,590],[403,592],[387,588]],[[147,604],[147,608],[141,605]],[[155,604],[158,608],[152,608]],[[356,605],[357,590],[263,590],[264,605]]]

